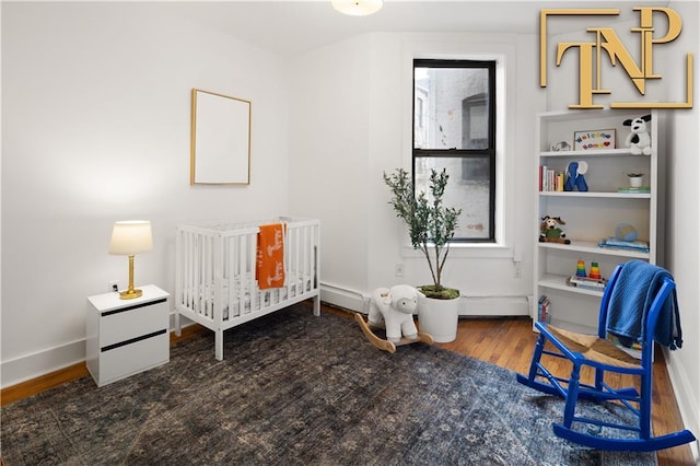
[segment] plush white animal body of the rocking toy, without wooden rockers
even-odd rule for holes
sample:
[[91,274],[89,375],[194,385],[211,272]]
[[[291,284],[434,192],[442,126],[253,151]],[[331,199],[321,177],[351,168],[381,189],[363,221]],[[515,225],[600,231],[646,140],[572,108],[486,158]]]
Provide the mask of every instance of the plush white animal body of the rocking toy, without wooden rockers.
[[418,328],[413,322],[413,311],[418,307],[418,291],[408,284],[392,288],[377,288],[370,301],[371,326],[381,326],[384,321],[386,339],[393,343],[400,341],[401,336],[409,340],[418,338]]

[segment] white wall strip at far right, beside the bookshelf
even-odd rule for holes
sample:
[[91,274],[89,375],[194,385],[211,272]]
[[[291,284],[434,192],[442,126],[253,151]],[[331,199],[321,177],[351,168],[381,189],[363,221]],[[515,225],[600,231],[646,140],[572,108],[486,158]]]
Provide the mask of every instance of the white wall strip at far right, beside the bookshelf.
[[[668,166],[666,198],[666,263],[678,284],[678,304],[684,329],[684,346],[667,351],[668,372],[686,426],[698,436],[700,433],[700,104],[698,104],[698,44],[700,44],[700,3],[672,1],[670,8],[684,19],[681,36],[675,44],[680,50],[695,54],[695,108],[669,112]],[[695,20],[695,21],[693,21]],[[668,75],[686,75],[682,57],[665,57],[664,69]],[[685,82],[685,81],[684,81]],[[682,88],[682,86],[680,86]],[[680,98],[682,100],[682,98]],[[674,98],[674,102],[678,98]],[[695,443],[696,458],[698,442]]]

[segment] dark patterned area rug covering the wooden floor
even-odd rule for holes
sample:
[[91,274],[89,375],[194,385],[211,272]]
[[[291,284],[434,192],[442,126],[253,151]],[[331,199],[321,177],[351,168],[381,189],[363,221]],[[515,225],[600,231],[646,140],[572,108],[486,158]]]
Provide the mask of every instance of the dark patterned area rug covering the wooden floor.
[[4,464],[655,464],[557,438],[562,403],[508,370],[422,343],[389,354],[304,305],[228,331],[224,351],[207,334],[161,368],[3,408]]

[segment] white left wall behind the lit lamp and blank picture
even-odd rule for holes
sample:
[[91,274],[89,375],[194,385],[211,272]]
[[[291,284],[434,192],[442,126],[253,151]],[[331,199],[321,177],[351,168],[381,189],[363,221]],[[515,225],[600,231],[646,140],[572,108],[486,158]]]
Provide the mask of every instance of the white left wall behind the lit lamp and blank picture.
[[[173,292],[177,223],[288,210],[282,66],[161,3],[2,2],[2,386],[84,359],[114,221],[151,220],[136,281]],[[253,102],[249,186],[189,185],[191,88]]]

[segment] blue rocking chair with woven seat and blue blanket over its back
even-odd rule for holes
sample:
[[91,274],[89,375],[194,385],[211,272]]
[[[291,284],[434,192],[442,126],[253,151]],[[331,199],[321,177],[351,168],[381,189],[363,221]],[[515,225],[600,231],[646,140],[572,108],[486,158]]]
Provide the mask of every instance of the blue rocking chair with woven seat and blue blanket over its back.
[[[603,294],[597,336],[568,331],[540,322],[535,327],[540,334],[529,374],[517,374],[516,378],[524,385],[565,399],[563,422],[553,424],[558,436],[599,450],[637,452],[670,448],[695,440],[688,430],[661,436],[652,436],[651,432],[654,341],[670,349],[680,348],[682,342],[676,284],[666,270],[641,260],[618,265]],[[607,338],[608,334],[621,341],[639,341],[642,359],[622,351]],[[547,341],[555,350],[545,349]],[[570,378],[552,374],[541,362],[542,354],[568,359],[572,363]],[[581,368],[585,365],[595,370],[593,385],[580,381]],[[604,381],[606,372],[639,375],[641,393],[634,387],[609,386]],[[638,422],[629,426],[576,416],[579,399],[617,400]],[[585,433],[585,429],[574,430],[574,422],[607,427],[616,432],[633,431],[637,438],[593,435]]]

